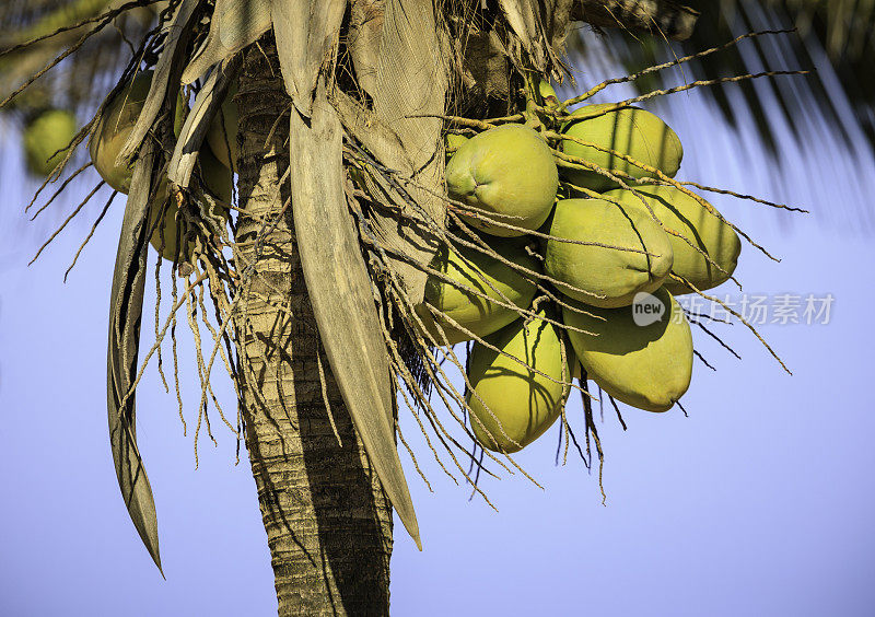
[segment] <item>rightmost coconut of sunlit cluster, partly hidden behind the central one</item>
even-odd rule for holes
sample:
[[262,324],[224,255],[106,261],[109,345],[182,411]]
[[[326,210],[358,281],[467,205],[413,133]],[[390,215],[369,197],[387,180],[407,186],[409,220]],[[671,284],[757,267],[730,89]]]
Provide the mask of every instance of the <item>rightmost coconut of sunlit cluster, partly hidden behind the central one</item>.
[[[693,197],[673,186],[637,186],[635,190],[639,195],[625,189],[611,190],[605,194],[605,198],[646,210],[643,197],[666,228],[680,233],[692,244],[690,246],[684,240],[668,235],[675,255],[673,272],[701,291],[714,288],[730,278],[738,264],[742,242],[728,224],[709,212]],[[693,246],[708,255],[713,264]],[[718,269],[714,264],[725,271]],[[670,279],[663,287],[675,295],[693,291]]]

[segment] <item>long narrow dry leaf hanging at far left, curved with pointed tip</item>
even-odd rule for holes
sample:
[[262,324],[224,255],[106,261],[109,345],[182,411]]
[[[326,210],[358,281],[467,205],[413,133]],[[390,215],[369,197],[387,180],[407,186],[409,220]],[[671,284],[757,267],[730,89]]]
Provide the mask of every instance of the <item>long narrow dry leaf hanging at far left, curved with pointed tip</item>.
[[[135,395],[145,289],[145,257],[149,244],[147,216],[151,193],[154,144],[147,141],[133,168],[109,298],[109,344],[107,348],[106,409],[109,442],[118,487],[149,555],[161,570],[158,519],[152,488],[137,447]],[[163,575],[163,572],[162,572]]]

